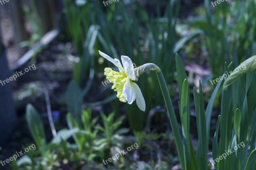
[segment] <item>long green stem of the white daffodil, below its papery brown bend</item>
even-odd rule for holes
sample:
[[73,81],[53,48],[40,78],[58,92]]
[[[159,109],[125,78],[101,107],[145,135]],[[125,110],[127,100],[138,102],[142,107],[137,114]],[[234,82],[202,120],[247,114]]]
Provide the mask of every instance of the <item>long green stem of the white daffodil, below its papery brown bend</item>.
[[169,119],[171,122],[171,126],[172,126],[172,132],[173,132],[173,136],[174,136],[174,140],[175,140],[175,144],[177,146],[177,151],[178,151],[178,156],[180,159],[180,164],[181,164],[181,168],[185,169],[185,161],[184,161],[184,152],[183,152],[183,144],[182,144],[182,140],[181,140],[181,135],[180,135],[180,130],[179,130],[179,126],[178,126],[178,122],[176,119],[176,115],[172,106],[172,100],[170,98],[169,95],[169,91],[166,85],[166,82],[164,80],[164,76],[163,73],[160,69],[156,69],[156,75],[164,96],[164,101],[165,101],[165,105],[167,107],[167,111],[168,111],[168,115],[169,115]]

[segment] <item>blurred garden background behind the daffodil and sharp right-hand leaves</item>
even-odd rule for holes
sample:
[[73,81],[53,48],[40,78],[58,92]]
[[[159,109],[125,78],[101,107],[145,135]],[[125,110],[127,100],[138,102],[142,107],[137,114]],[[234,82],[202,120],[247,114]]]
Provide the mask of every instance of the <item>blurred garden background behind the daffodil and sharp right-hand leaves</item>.
[[[129,56],[136,66],[158,65],[177,115],[176,53],[191,90],[201,79],[205,105],[217,85],[210,80],[223,74],[225,62],[238,66],[256,54],[255,0],[2,2],[0,80],[36,69],[0,85],[0,160],[37,148],[0,169],[180,169],[156,74],[136,82],[146,101],[142,112],[102,83],[104,68],[114,66],[98,50]],[[219,114],[215,100],[211,138]],[[193,107],[190,121],[196,145]],[[138,149],[102,162],[134,143]]]

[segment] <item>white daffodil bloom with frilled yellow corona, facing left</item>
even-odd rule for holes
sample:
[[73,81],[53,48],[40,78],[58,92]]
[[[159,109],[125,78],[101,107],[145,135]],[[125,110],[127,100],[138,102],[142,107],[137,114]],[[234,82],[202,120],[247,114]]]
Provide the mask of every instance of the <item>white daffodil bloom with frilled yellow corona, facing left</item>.
[[107,79],[114,84],[112,89],[117,92],[116,97],[122,102],[127,101],[128,104],[132,104],[136,99],[136,103],[140,110],[145,111],[146,104],[140,88],[136,83],[132,82],[132,80],[135,80],[132,60],[129,57],[122,55],[121,60],[123,67],[118,59],[113,59],[101,51],[99,51],[99,53],[102,57],[113,63],[119,70],[119,72],[113,71],[111,68],[105,68],[104,70],[104,75],[106,75]]

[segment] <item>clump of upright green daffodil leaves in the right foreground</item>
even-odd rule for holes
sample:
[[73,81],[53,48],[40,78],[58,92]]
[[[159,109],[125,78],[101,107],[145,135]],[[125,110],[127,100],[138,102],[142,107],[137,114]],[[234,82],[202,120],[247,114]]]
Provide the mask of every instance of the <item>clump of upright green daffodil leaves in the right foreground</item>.
[[[178,84],[179,84],[179,94],[180,94],[180,119],[182,124],[182,145],[180,144],[181,136],[176,130],[177,120],[174,118],[174,111],[171,100],[164,97],[168,113],[170,116],[170,122],[173,128],[173,134],[177,145],[177,150],[179,154],[180,163],[182,169],[210,169],[209,161],[207,160],[208,144],[209,144],[209,133],[210,133],[210,121],[211,112],[214,99],[216,97],[216,92],[222,84],[222,80],[216,86],[213,95],[206,107],[204,109],[204,98],[203,90],[199,86],[199,95],[194,87],[194,102],[196,109],[196,124],[198,133],[198,143],[196,152],[194,152],[193,145],[191,143],[191,137],[189,135],[190,127],[190,106],[189,106],[189,95],[188,95],[188,82],[185,74],[185,67],[179,57],[176,55],[176,66],[179,68],[177,70]],[[179,67],[178,67],[179,66]],[[225,65],[225,71],[229,71],[231,64]],[[233,69],[232,69],[233,70]],[[157,73],[159,74],[159,73]],[[231,88],[226,91],[222,91],[221,98],[221,113],[217,121],[216,132],[213,137],[212,145],[212,155],[213,159],[218,158],[222,153],[225,153],[229,149],[234,148],[238,143],[244,141],[245,147],[240,147],[235,153],[228,156],[227,159],[220,160],[216,163],[215,169],[253,169],[254,164],[252,164],[252,159],[255,157],[255,117],[256,117],[256,106],[255,106],[255,96],[247,96],[250,92],[255,92],[255,86],[252,85],[252,77],[255,74],[255,70],[247,73],[246,77],[242,76],[235,83],[232,84]],[[185,78],[185,79],[184,79]],[[183,81],[184,80],[184,81]],[[161,77],[159,78],[160,86],[161,81],[164,81]],[[183,81],[183,83],[182,83]],[[253,80],[254,81],[254,80]],[[182,83],[182,84],[181,84]],[[253,82],[254,83],[254,82]],[[182,87],[182,88],[180,88]],[[164,89],[164,88],[162,88]],[[238,90],[239,89],[239,90]],[[163,90],[163,94],[166,91]],[[238,95],[240,94],[240,95]],[[164,94],[166,95],[166,94]],[[248,107],[248,97],[254,102],[252,108],[249,111]],[[242,114],[240,109],[242,109]],[[249,121],[252,120],[252,121]],[[241,123],[241,124],[240,124]],[[218,131],[220,125],[220,141],[218,142]],[[251,129],[252,128],[252,129]],[[239,133],[243,131],[243,133]],[[249,137],[248,137],[249,135]],[[231,137],[231,138],[230,138]],[[250,148],[250,149],[249,149]],[[249,156],[250,155],[250,156]],[[248,159],[249,156],[249,159]]]

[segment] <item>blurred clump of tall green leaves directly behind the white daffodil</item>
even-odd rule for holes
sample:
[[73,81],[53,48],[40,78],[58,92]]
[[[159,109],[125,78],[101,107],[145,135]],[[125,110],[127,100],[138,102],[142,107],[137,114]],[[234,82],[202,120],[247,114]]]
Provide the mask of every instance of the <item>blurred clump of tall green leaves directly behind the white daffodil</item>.
[[[96,73],[103,71],[104,67],[93,58],[99,49],[113,58],[120,59],[117,52],[120,55],[127,55],[136,66],[155,63],[165,70],[167,81],[172,83],[175,67],[173,49],[180,49],[183,45],[175,44],[175,23],[180,1],[170,1],[164,16],[158,18],[150,18],[138,2],[132,1],[119,1],[108,8],[98,1],[73,4],[70,0],[65,0],[64,4],[69,35],[80,56],[80,62],[74,68],[74,79],[77,83],[81,84],[87,77],[89,67],[94,68]],[[98,54],[96,56],[99,57]],[[163,104],[163,101],[158,99],[161,94],[158,85],[151,77],[140,77],[138,85],[144,87],[142,93],[147,109]],[[151,100],[152,98],[155,100]],[[146,115],[134,106],[126,106],[130,126],[132,129],[142,130]]]

